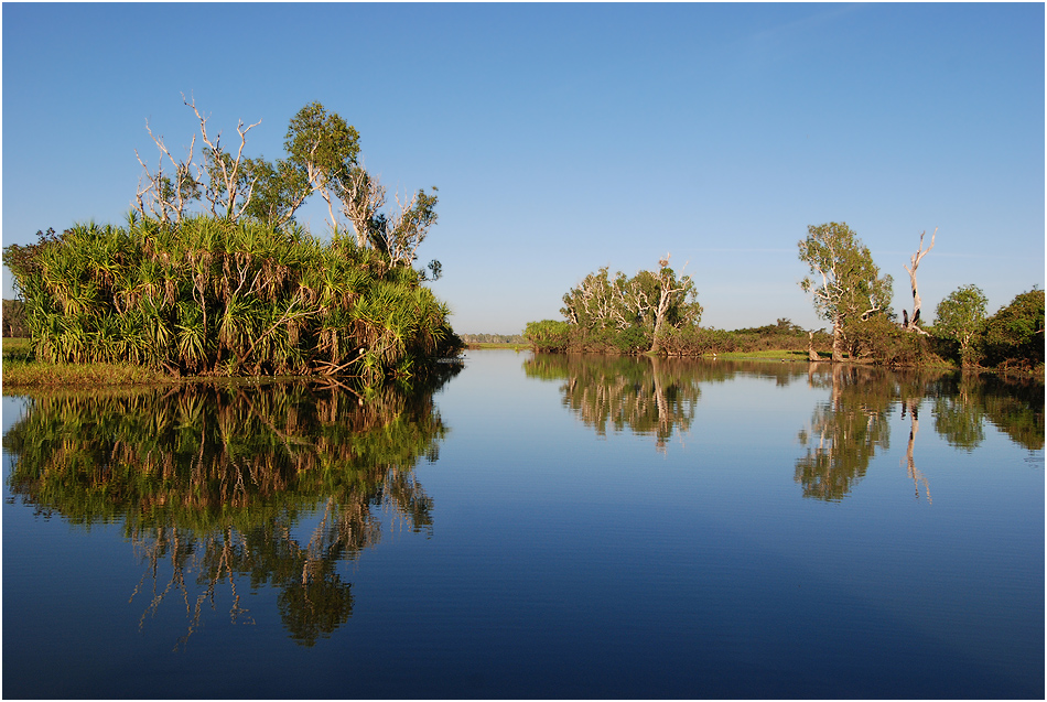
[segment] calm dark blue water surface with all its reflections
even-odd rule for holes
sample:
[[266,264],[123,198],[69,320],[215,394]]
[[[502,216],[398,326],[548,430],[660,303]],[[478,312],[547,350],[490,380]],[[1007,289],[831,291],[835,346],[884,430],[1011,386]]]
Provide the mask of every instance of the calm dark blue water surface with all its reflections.
[[433,385],[4,397],[3,695],[1043,699],[1041,385]]

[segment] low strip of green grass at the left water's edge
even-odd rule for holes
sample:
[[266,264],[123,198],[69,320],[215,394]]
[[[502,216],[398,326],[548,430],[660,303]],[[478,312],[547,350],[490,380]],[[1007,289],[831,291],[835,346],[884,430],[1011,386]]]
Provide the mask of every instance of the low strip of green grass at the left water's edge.
[[34,360],[28,338],[3,339],[3,391],[24,387],[145,385],[170,382],[162,372],[134,364],[46,364]]

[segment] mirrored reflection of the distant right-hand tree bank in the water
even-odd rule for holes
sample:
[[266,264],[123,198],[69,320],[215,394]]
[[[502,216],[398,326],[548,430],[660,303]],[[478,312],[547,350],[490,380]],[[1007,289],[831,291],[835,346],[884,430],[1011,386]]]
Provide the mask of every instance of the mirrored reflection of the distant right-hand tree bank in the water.
[[916,499],[928,504],[930,484],[917,465],[920,413],[928,409],[935,431],[959,449],[976,447],[986,422],[1029,451],[1044,446],[1044,385],[1035,380],[927,368],[553,354],[529,358],[524,369],[530,378],[560,381],[562,404],[597,434],[628,429],[654,436],[661,452],[673,432],[691,430],[703,384],[746,376],[824,389],[827,399],[798,432],[803,453],[794,473],[803,497],[828,501],[848,496],[873,458],[891,449],[895,412],[909,430],[900,463]]

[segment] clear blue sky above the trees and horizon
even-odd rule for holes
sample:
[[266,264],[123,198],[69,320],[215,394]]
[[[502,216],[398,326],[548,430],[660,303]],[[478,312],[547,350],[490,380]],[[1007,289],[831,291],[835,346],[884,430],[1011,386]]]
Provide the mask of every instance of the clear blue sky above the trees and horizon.
[[[3,12],[3,244],[122,222],[180,153],[181,93],[250,155],[313,100],[391,190],[440,188],[420,257],[462,333],[560,318],[601,266],[672,253],[703,324],[824,323],[808,225],[846,222],[925,314],[1044,287],[1044,4],[22,4]],[[326,208],[300,217],[324,234]],[[12,296],[4,272],[3,295]]]

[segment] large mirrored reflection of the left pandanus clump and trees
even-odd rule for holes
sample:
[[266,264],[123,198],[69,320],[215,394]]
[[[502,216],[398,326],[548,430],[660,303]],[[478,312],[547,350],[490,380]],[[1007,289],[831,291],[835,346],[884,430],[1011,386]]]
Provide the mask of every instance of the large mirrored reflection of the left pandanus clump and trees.
[[458,369],[366,398],[330,384],[41,395],[4,436],[9,487],[37,515],[123,526],[145,565],[142,626],[181,601],[184,645],[216,595],[249,624],[247,582],[276,588],[284,628],[312,646],[352,615],[339,563],[379,542],[379,514],[431,530],[413,468],[438,457],[432,391]]

